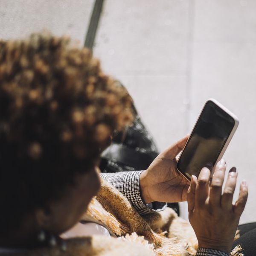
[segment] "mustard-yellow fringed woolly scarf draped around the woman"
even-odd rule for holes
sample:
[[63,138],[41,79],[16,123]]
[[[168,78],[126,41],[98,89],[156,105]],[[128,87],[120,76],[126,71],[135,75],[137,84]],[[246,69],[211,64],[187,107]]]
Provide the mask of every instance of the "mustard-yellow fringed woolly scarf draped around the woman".
[[[174,210],[140,216],[129,201],[111,184],[102,180],[101,189],[90,202],[84,220],[94,218],[110,230],[114,237],[91,236],[68,239],[61,246],[8,254],[13,256],[192,256],[198,247],[188,221]],[[242,256],[236,247],[230,254]]]

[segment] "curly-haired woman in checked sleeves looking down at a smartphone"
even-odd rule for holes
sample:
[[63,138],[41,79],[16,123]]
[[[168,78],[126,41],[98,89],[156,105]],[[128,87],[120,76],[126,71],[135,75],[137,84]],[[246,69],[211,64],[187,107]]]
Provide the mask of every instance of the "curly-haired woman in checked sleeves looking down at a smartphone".
[[[79,225],[99,190],[101,152],[113,131],[132,119],[130,96],[102,73],[87,49],[49,34],[0,42],[2,253],[31,252],[47,246],[47,241],[54,246],[60,235],[69,236],[65,232]],[[141,214],[154,212],[146,205],[151,201],[188,200],[189,220],[203,247],[198,255],[227,255],[247,185],[241,184],[232,206],[237,172],[230,170],[221,195],[226,168],[222,160],[211,185],[210,171],[204,168],[189,186],[175,160],[186,139],[161,153],[145,171],[102,177]],[[73,230],[76,235],[81,226]],[[84,230],[87,235],[86,225]],[[135,255],[132,249],[127,253]]]

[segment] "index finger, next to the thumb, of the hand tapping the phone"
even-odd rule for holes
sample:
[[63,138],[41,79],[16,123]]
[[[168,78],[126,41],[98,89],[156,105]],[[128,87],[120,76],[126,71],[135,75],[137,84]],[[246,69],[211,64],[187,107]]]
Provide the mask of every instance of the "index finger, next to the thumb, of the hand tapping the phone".
[[198,183],[195,189],[195,204],[196,206],[202,206],[209,195],[209,180],[211,172],[208,168],[204,167],[199,176]]

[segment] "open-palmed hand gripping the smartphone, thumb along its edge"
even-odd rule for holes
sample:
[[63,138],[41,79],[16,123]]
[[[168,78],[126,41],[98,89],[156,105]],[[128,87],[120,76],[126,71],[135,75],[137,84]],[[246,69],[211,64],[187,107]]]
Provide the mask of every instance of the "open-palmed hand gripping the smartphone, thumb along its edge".
[[140,189],[145,204],[152,201],[182,202],[187,200],[189,181],[177,171],[176,156],[186,144],[188,136],[173,144],[140,175]]

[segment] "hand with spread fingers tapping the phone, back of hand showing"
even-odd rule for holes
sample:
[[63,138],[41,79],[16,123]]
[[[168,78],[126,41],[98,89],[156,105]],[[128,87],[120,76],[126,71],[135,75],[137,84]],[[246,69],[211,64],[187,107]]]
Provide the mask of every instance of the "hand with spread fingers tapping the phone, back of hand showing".
[[237,172],[235,167],[230,169],[222,193],[225,170],[226,163],[222,159],[216,166],[211,183],[207,168],[201,170],[198,179],[192,176],[188,190],[188,209],[198,247],[230,253],[239,218],[247,201],[248,188],[245,181],[240,184],[239,198],[233,205]]

